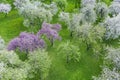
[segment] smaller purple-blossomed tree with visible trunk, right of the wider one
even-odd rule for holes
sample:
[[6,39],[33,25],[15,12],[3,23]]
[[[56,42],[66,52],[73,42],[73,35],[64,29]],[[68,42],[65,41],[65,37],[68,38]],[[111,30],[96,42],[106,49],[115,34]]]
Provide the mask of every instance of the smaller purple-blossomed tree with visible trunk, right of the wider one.
[[47,39],[49,39],[49,41],[51,42],[51,46],[53,46],[55,40],[61,40],[61,37],[58,34],[60,30],[61,30],[60,24],[49,24],[43,22],[42,28],[37,33],[37,36],[38,37],[46,36]]

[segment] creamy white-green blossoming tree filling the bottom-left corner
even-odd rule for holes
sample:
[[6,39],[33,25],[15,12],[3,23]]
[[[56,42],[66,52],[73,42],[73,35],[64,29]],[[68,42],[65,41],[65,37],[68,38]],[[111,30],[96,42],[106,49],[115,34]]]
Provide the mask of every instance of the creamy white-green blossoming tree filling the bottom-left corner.
[[0,51],[0,79],[26,80],[27,68],[13,51]]

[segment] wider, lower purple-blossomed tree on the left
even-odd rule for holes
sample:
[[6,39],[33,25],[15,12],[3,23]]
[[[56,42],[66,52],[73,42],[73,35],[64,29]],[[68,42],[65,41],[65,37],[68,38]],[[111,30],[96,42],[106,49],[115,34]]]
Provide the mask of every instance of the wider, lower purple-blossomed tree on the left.
[[38,48],[44,48],[44,40],[38,38],[34,34],[22,32],[19,37],[14,38],[8,44],[8,50],[19,50],[21,52],[29,53]]

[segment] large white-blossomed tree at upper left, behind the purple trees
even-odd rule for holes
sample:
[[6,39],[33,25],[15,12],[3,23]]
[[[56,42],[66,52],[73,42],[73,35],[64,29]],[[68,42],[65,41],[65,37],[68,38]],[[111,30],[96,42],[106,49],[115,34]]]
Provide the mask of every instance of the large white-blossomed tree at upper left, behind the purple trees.
[[[45,4],[40,1],[29,1],[25,3],[17,3],[16,8],[20,15],[24,17],[24,25],[33,28],[34,26],[40,26],[43,21],[50,22],[52,17],[57,13],[57,5],[53,2],[51,4]],[[18,6],[17,4],[20,4]],[[31,29],[33,30],[33,29]]]

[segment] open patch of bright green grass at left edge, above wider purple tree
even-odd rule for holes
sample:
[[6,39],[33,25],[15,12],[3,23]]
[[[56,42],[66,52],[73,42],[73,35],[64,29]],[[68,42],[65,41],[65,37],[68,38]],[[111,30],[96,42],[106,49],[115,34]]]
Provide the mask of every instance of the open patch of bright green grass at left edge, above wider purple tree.
[[0,35],[6,42],[18,36],[20,32],[25,31],[23,19],[18,15],[17,11],[11,11],[6,17],[0,14]]

